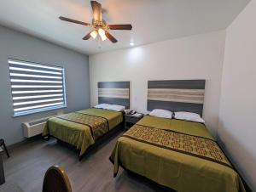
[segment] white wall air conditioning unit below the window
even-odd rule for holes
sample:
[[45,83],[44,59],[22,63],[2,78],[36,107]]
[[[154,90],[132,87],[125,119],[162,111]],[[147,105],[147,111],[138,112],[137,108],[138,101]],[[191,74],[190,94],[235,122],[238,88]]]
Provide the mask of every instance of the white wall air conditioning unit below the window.
[[34,121],[23,122],[22,128],[23,128],[24,137],[31,138],[38,134],[42,134],[44,131],[45,124],[50,117],[52,116],[45,117],[43,119],[34,120]]

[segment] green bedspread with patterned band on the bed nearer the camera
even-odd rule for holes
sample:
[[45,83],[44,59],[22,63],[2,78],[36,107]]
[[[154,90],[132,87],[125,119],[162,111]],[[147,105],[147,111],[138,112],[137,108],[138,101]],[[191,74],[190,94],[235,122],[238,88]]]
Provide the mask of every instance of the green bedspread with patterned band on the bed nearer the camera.
[[244,192],[205,125],[145,116],[121,136],[110,160],[178,192]]

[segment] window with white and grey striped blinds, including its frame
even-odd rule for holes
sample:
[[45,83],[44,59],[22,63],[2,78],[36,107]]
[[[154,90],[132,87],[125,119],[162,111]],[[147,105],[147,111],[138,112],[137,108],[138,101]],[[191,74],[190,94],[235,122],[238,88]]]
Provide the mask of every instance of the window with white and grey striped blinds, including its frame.
[[14,116],[67,106],[62,67],[9,59],[9,76]]

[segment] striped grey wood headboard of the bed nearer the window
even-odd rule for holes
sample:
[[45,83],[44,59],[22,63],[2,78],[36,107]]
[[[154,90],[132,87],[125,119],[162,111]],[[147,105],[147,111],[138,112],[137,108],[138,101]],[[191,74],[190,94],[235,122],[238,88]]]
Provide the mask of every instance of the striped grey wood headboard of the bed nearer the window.
[[130,108],[130,82],[98,82],[99,104],[120,104]]

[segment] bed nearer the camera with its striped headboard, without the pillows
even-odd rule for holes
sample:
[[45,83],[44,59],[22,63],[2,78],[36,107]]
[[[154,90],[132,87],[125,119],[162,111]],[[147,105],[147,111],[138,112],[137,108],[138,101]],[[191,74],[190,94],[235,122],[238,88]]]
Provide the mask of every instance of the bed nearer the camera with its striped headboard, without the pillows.
[[[148,110],[202,114],[204,88],[204,80],[148,82]],[[199,122],[144,116],[118,139],[110,161],[114,177],[124,167],[179,192],[245,191],[238,173]]]

